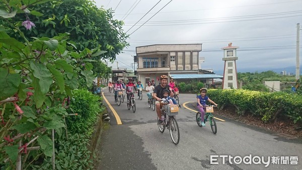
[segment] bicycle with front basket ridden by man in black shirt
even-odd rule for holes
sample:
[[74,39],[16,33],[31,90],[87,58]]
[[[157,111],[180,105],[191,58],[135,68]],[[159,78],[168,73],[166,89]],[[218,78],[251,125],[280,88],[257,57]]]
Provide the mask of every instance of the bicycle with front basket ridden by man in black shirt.
[[[166,128],[169,129],[172,142],[175,145],[177,145],[180,139],[179,127],[175,119],[179,111],[178,105],[167,105],[167,104],[165,105],[165,102],[162,100],[161,111],[162,111],[162,120],[163,119],[164,120],[163,123],[158,124],[160,132],[164,133]],[[168,115],[168,119],[167,119],[167,115]],[[157,121],[159,121],[158,116],[157,116]]]

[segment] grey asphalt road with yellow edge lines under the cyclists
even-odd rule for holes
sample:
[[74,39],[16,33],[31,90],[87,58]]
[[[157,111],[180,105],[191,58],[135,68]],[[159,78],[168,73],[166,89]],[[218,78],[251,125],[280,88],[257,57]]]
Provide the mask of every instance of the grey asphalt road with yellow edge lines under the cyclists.
[[114,94],[103,92],[111,125],[99,139],[97,169],[302,169],[302,139],[279,137],[232,120],[216,120],[213,134],[208,122],[199,127],[195,121],[194,94],[180,94],[186,108],[182,106],[176,117],[180,142],[174,145],[169,130],[159,131],[145,92],[141,101],[135,98],[135,113],[127,109],[126,100],[117,106]]

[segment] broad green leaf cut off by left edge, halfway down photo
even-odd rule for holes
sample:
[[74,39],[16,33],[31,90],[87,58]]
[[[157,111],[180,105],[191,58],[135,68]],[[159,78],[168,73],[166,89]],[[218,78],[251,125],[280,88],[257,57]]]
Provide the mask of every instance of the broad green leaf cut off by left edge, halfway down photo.
[[19,90],[21,76],[11,74],[8,68],[0,68],[0,101],[15,95]]

